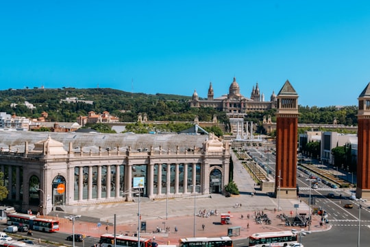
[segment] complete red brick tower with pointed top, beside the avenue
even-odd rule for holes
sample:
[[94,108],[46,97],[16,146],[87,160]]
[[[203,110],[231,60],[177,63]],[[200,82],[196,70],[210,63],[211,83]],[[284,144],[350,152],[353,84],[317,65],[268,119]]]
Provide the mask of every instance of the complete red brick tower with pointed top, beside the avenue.
[[277,94],[276,198],[297,198],[298,95],[286,80]]

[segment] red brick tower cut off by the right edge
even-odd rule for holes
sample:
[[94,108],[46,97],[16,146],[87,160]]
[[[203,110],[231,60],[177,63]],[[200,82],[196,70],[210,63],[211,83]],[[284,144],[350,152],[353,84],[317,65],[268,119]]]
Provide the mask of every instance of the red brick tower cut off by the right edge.
[[370,199],[370,83],[358,97],[356,198]]

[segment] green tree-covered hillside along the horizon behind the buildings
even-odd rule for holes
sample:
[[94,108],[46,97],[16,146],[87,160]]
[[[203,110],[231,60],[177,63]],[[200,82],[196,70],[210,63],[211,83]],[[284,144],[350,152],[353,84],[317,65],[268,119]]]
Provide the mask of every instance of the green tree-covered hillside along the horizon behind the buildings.
[[[93,104],[61,102],[66,97],[93,101]],[[91,110],[95,113],[103,113],[107,110],[123,122],[136,122],[138,113],[146,113],[148,119],[153,121],[193,121],[195,115],[198,116],[199,121],[212,121],[213,115],[217,115],[221,124],[228,124],[225,113],[213,108],[190,108],[189,99],[191,97],[182,95],[160,93],[150,95],[99,88],[8,89],[0,91],[0,112],[36,119],[45,111],[49,114],[48,121],[76,121],[77,117],[86,116]],[[24,105],[25,102],[34,104],[36,108],[27,108]],[[299,106],[298,122],[300,124],[332,124],[335,118],[338,124],[356,126],[357,111],[357,106]],[[262,126],[263,117],[271,115],[274,122],[275,113],[275,109],[266,112],[251,112],[248,113],[246,119]]]

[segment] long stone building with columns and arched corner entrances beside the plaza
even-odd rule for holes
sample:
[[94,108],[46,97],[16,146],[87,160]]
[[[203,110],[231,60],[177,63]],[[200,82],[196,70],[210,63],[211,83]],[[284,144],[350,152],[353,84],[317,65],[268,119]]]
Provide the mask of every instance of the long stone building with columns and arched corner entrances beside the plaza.
[[0,132],[0,167],[18,211],[221,193],[229,143],[213,134]]

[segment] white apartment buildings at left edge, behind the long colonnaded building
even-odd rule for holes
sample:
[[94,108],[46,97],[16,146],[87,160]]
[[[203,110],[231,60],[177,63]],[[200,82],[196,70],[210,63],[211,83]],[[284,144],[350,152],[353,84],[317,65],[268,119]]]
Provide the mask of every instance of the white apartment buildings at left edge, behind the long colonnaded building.
[[0,113],[1,131],[27,131],[29,128],[29,119],[18,117],[7,113]]

